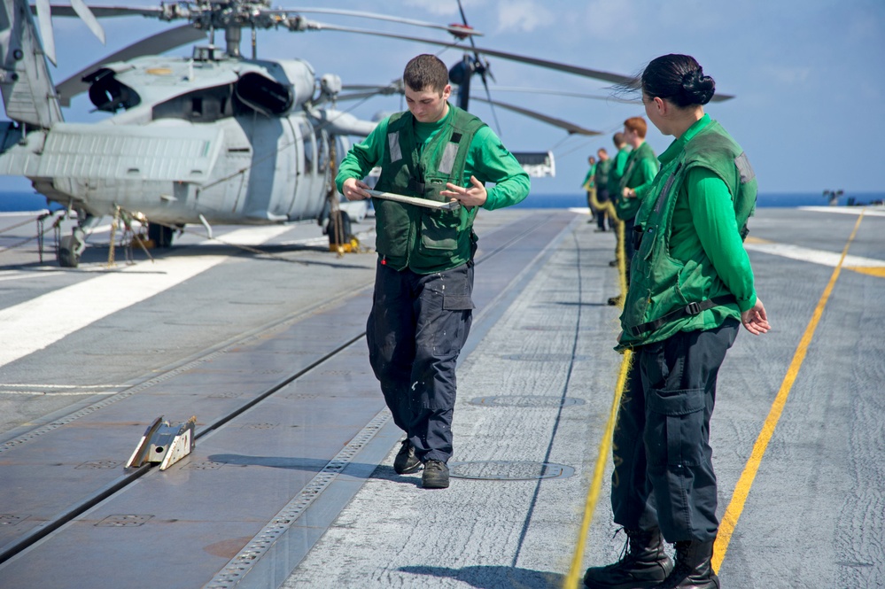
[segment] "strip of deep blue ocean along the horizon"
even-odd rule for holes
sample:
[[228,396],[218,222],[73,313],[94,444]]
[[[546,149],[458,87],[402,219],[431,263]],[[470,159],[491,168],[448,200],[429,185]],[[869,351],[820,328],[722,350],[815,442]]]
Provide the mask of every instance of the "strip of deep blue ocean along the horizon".
[[[839,198],[839,205],[868,205],[875,202],[885,201],[885,192],[858,192],[846,194]],[[824,198],[820,192],[785,192],[785,193],[760,193],[757,198],[759,207],[796,207],[827,205],[828,198]],[[583,192],[576,191],[573,194],[532,194],[522,203],[516,205],[522,208],[571,208],[586,206],[586,196]],[[39,211],[47,208],[46,198],[34,192],[10,192],[0,191],[0,213],[12,213],[19,211]],[[52,209],[61,208],[56,203]]]

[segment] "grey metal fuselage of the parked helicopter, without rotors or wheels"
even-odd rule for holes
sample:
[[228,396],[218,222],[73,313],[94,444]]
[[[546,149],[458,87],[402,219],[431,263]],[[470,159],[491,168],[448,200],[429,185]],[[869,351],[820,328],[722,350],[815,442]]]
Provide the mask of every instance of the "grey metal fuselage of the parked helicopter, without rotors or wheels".
[[26,137],[25,175],[51,200],[175,225],[321,215],[330,137],[302,108],[314,92],[306,62],[151,57],[86,77],[92,102],[113,116]]

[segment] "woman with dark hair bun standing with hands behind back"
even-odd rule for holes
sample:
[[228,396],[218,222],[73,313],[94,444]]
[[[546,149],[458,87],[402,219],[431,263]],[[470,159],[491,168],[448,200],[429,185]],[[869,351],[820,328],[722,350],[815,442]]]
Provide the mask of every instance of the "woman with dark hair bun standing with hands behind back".
[[[594,589],[718,589],[710,415],[741,323],[770,329],[743,248],[757,182],[741,146],[704,114],[715,84],[686,55],[640,79],[648,119],[676,140],[636,216],[641,235],[616,349],[633,350],[613,442],[611,507],[622,559],[586,571]],[[664,539],[676,545],[675,566]]]

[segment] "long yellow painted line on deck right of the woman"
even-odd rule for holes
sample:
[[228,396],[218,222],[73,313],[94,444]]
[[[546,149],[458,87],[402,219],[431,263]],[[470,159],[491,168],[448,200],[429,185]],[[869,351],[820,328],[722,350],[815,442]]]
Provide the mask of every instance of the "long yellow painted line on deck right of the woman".
[[824,289],[824,293],[820,296],[818,306],[815,307],[814,313],[811,314],[811,321],[808,322],[808,326],[805,328],[802,339],[799,340],[799,345],[796,347],[796,353],[793,355],[793,360],[790,362],[789,368],[787,369],[787,376],[784,376],[784,380],[780,384],[780,391],[778,391],[777,396],[774,398],[772,408],[768,412],[768,417],[765,418],[765,423],[763,423],[762,431],[759,432],[756,444],[753,445],[753,451],[750,453],[749,461],[747,461],[747,465],[744,467],[743,472],[741,472],[741,478],[738,479],[737,484],[734,486],[732,500],[726,508],[725,515],[722,516],[716,544],[713,546],[713,570],[719,570],[719,566],[726,557],[726,551],[728,550],[728,544],[731,542],[734,527],[741,518],[743,506],[747,502],[749,488],[753,485],[753,480],[756,478],[756,473],[762,462],[762,457],[765,455],[765,449],[768,447],[768,442],[772,439],[774,428],[777,426],[778,420],[780,420],[780,414],[783,412],[784,406],[787,404],[789,391],[793,388],[793,384],[796,382],[799,368],[802,367],[802,363],[805,360],[805,354],[808,352],[808,346],[811,345],[811,338],[814,337],[814,331],[818,328],[820,317],[824,314],[824,307],[827,306],[827,300],[830,298],[836,279],[842,271],[842,261],[848,256],[848,248],[850,247],[851,242],[854,241],[854,237],[858,234],[860,221],[863,220],[863,218],[864,213],[861,211],[858,215],[858,222],[855,223],[854,230],[851,231],[851,235],[848,238],[848,243],[845,244],[845,248],[842,250],[842,258],[839,260],[839,263],[836,264],[836,267],[833,270],[833,275],[830,276],[830,282],[827,283],[827,288]]

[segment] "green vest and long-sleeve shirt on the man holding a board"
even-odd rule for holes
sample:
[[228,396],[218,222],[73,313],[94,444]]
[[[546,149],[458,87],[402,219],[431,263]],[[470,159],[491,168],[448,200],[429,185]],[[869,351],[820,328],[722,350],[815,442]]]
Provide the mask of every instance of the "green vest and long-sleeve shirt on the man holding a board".
[[[487,189],[483,208],[488,210],[520,202],[529,189],[528,174],[492,130],[453,105],[437,122],[418,122],[408,111],[383,120],[341,163],[338,190],[347,178],[364,177],[376,163],[381,164],[376,190],[439,202],[446,200],[439,195],[446,182],[469,187],[471,175],[496,182]],[[423,191],[415,183],[420,178]],[[384,264],[431,274],[470,260],[477,207],[434,210],[381,198],[373,204],[376,247]]]

